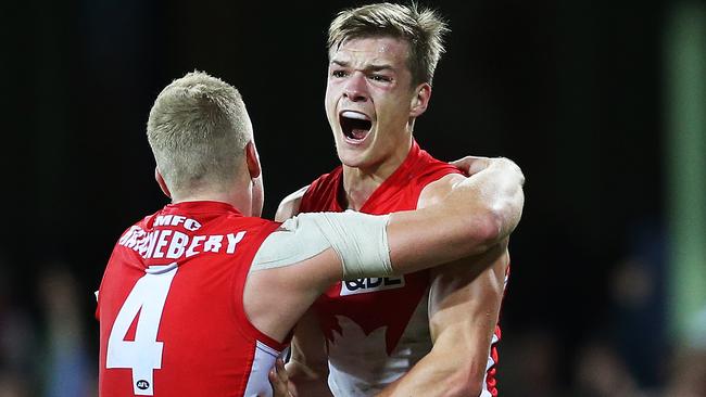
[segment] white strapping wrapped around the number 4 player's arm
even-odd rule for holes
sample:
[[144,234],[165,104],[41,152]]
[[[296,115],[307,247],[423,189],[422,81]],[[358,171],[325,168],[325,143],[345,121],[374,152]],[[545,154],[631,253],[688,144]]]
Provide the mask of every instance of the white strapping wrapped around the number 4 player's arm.
[[265,239],[250,271],[294,265],[331,247],[344,280],[390,276],[389,219],[352,212],[300,214]]

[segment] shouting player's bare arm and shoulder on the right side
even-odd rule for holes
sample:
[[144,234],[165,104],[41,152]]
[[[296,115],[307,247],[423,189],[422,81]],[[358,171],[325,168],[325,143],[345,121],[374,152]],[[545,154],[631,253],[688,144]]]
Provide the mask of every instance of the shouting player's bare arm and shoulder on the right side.
[[[429,184],[419,206],[438,202],[458,175]],[[433,348],[379,396],[479,396],[509,262],[507,240],[488,252],[431,269]]]

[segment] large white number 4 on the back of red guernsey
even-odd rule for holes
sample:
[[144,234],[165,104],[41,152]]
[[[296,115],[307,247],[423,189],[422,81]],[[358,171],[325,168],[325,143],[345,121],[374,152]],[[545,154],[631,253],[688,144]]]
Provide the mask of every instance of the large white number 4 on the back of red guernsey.
[[[177,264],[150,266],[125,299],[117,313],[111,335],[108,338],[105,368],[129,368],[133,370],[133,389],[138,396],[153,396],[154,370],[162,368],[164,343],[156,342],[162,310]],[[125,341],[130,324],[137,317],[135,341]]]

